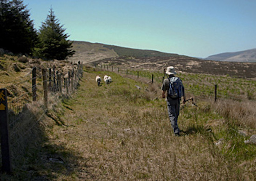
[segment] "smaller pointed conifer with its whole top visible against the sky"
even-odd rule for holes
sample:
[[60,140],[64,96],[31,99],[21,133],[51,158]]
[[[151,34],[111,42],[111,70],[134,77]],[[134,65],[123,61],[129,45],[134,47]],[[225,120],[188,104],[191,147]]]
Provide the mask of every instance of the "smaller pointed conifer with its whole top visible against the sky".
[[47,60],[65,60],[71,57],[74,50],[71,49],[72,42],[67,40],[69,35],[65,34],[65,30],[51,8],[39,29],[40,43],[35,48],[36,55]]

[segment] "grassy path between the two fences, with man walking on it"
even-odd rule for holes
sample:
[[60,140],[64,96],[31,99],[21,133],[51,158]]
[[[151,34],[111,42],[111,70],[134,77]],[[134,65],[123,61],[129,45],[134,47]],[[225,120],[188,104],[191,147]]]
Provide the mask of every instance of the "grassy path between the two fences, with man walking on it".
[[[113,82],[98,87],[97,74],[108,74]],[[166,102],[150,101],[152,90],[112,72],[88,69],[73,97],[56,108],[55,114],[67,126],[54,126],[44,146],[60,161],[44,165],[38,174],[46,175],[46,180],[70,181],[255,178],[253,170],[245,171],[251,165],[239,168],[215,146],[206,123],[221,124],[221,117],[207,107],[183,107],[182,136],[175,137]]]

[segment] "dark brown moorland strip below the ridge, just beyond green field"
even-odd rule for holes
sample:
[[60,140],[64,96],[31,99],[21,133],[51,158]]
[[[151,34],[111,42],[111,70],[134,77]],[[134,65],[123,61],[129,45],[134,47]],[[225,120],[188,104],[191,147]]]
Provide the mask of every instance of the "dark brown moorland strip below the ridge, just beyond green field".
[[175,66],[178,73],[211,75],[229,75],[240,78],[256,78],[256,63],[220,62],[200,60],[193,57],[115,57],[94,61],[93,65],[108,65],[128,69],[146,69],[163,71],[168,66]]

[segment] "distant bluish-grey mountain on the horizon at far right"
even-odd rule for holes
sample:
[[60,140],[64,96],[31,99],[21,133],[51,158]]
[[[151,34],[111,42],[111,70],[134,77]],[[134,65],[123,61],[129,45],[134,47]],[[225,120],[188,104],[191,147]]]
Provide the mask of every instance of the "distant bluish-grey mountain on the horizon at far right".
[[233,62],[256,62],[256,48],[241,52],[222,53],[211,55],[205,60],[233,61]]

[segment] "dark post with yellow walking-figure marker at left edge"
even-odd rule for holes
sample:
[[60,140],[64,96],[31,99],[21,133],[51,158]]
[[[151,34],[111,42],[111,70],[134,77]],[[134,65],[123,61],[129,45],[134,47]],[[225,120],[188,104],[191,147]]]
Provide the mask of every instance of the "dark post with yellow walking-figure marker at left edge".
[[11,173],[11,155],[9,142],[9,125],[8,125],[8,106],[7,90],[0,89],[0,134],[1,134],[1,154],[2,154],[2,171]]

